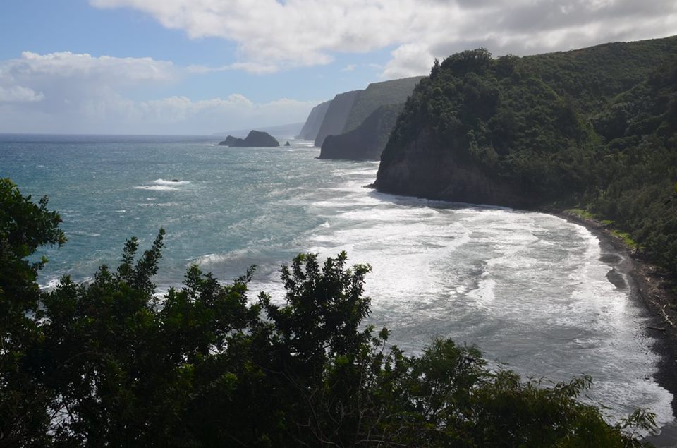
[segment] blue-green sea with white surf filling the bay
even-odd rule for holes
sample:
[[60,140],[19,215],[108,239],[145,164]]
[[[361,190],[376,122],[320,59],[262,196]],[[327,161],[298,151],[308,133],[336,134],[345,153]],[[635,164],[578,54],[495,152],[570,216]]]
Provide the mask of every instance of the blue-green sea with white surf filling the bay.
[[166,231],[160,291],[197,263],[224,281],[257,265],[250,285],[283,301],[279,266],[300,252],[369,263],[368,323],[416,353],[433,337],[477,344],[525,376],[592,375],[592,401],[623,416],[672,420],[654,382],[647,317],[618,257],[581,226],[547,214],[377,193],[377,163],[315,159],[317,148],[228,148],[212,138],[3,138],[0,177],[48,194],[68,243],[50,248],[39,282],[83,280],[116,266],[126,238]]

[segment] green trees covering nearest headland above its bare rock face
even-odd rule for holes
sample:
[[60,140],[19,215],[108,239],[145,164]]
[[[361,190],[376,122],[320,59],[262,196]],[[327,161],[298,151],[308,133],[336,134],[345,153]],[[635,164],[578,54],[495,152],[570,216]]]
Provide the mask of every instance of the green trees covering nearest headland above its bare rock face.
[[492,59],[479,49],[436,62],[407,102],[382,162],[402,157],[425,129],[435,143],[427,152],[449,152],[456,164],[480,167],[516,190],[518,204],[585,191],[595,143],[590,126],[514,56]]

